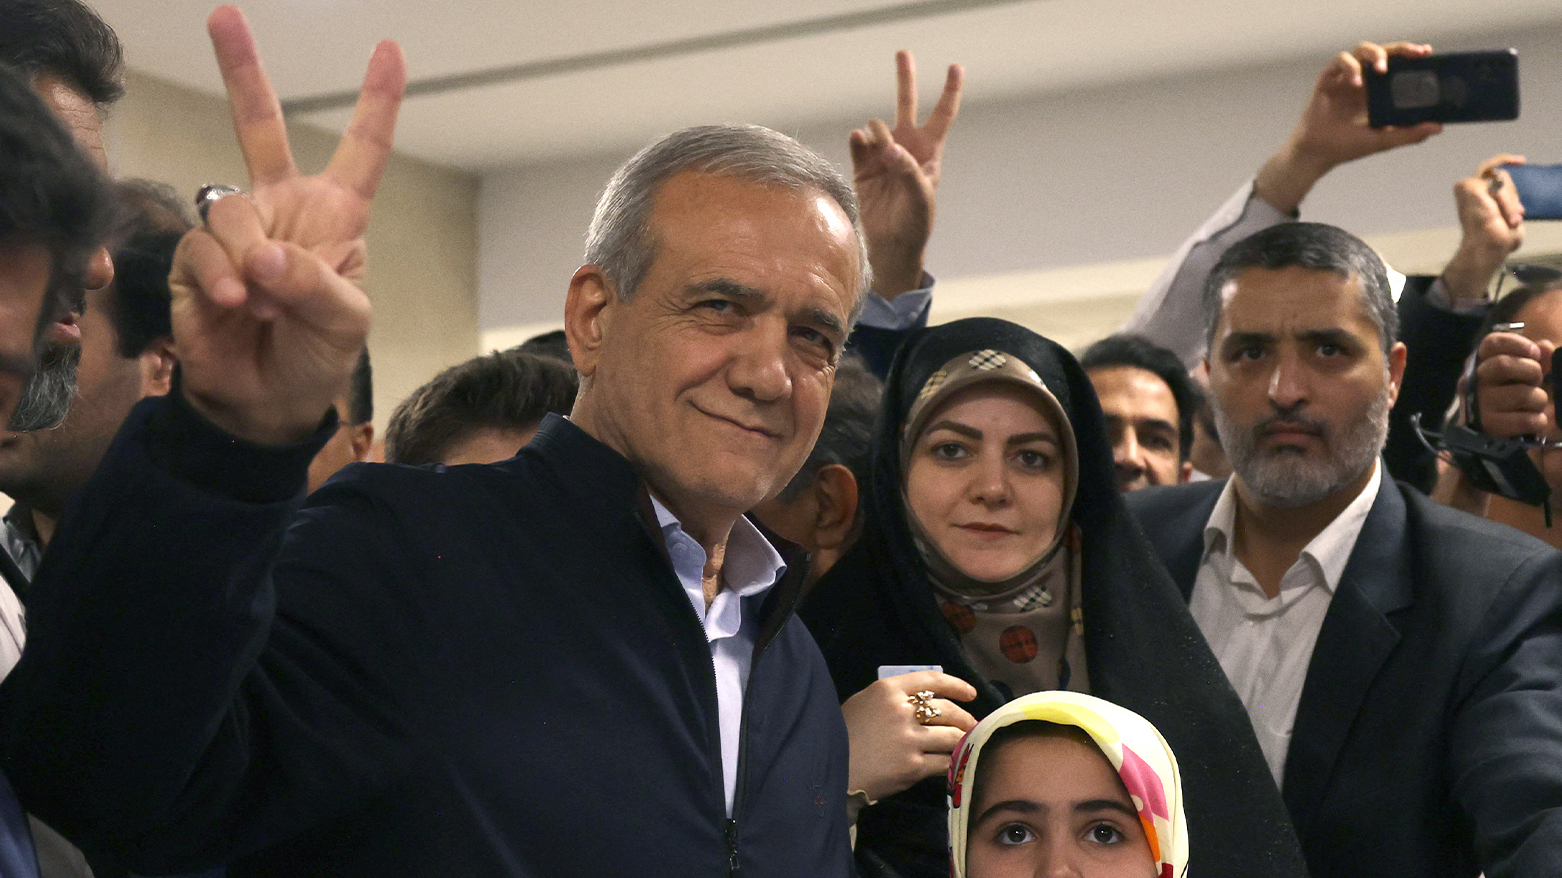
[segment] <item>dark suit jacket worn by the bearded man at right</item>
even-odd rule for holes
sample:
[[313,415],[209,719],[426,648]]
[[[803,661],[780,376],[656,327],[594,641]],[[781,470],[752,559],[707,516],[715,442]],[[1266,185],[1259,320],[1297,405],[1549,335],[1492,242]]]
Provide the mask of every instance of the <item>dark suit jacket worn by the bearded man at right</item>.
[[[1184,595],[1223,484],[1128,495]],[[1281,787],[1315,878],[1562,875],[1562,553],[1384,481]]]

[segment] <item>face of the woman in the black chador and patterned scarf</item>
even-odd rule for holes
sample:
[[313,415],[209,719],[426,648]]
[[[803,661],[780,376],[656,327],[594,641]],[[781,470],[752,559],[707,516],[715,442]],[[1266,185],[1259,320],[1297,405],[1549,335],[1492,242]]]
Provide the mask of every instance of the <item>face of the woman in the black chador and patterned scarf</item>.
[[945,402],[917,436],[906,503],[962,573],[997,583],[1034,564],[1057,534],[1064,444],[1036,397],[1003,383]]

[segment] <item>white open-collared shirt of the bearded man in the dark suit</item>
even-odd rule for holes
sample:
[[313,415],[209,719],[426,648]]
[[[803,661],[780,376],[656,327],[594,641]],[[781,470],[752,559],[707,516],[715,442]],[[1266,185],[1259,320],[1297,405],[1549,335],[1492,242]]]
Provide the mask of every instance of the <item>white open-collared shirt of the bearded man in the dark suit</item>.
[[1246,706],[1276,784],[1286,773],[1290,730],[1318,628],[1381,486],[1382,464],[1375,461],[1371,480],[1301,550],[1273,598],[1232,553],[1236,481],[1226,483],[1204,526],[1204,558],[1189,609]]

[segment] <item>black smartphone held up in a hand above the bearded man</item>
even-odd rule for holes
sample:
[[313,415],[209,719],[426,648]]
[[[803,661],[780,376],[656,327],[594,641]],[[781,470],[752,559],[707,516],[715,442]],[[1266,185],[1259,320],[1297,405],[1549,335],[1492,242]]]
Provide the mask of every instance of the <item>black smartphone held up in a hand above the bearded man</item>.
[[1367,123],[1501,122],[1518,119],[1518,50],[1389,58],[1367,69]]

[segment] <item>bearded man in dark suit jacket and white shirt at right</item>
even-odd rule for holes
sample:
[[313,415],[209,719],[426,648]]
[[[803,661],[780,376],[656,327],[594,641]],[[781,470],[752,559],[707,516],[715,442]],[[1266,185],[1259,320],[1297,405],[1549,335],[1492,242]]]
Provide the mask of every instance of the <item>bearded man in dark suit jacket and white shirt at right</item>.
[[1378,256],[1318,223],[1206,286],[1229,481],[1128,495],[1242,697],[1314,875],[1554,875],[1562,553],[1384,478]]

